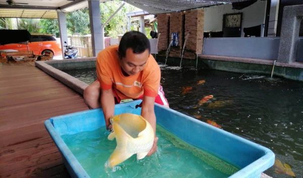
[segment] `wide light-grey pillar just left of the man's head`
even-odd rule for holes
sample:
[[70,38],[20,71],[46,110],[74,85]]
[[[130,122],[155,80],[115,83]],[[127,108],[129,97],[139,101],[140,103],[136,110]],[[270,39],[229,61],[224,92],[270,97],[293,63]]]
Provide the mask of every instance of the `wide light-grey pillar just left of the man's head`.
[[88,0],[89,22],[91,33],[92,56],[97,56],[104,49],[104,35],[100,19],[100,2],[99,0]]

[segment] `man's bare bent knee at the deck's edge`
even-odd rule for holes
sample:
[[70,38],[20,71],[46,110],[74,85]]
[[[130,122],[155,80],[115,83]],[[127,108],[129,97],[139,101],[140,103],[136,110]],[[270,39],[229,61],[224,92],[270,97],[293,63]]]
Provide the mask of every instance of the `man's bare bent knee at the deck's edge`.
[[88,85],[83,92],[84,102],[90,109],[100,107],[100,84],[94,81]]

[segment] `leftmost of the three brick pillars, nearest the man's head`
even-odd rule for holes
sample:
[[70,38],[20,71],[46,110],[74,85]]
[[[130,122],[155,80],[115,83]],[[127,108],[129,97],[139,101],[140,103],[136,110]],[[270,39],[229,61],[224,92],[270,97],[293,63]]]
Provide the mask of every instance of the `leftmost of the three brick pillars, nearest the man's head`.
[[169,45],[169,14],[158,14],[158,34],[159,43],[158,43],[158,52],[159,55],[165,56],[166,50]]

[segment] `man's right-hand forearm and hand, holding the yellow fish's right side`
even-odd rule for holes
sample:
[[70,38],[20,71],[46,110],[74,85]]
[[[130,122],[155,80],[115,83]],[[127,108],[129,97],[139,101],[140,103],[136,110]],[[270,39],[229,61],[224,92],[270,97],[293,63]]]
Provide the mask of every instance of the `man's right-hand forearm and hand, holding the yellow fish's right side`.
[[154,102],[155,102],[154,97],[144,96],[142,101],[142,109],[141,109],[141,116],[150,123],[151,127],[153,127],[155,132],[154,145],[148,152],[147,154],[148,156],[154,154],[157,151],[158,138],[156,137],[156,115],[154,110]]

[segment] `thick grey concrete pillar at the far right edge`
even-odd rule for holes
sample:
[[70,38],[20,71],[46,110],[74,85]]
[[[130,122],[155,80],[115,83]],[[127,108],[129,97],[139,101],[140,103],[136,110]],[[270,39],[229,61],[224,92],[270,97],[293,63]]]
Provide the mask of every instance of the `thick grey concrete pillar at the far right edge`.
[[301,17],[303,17],[303,5],[284,7],[278,62],[296,61]]

